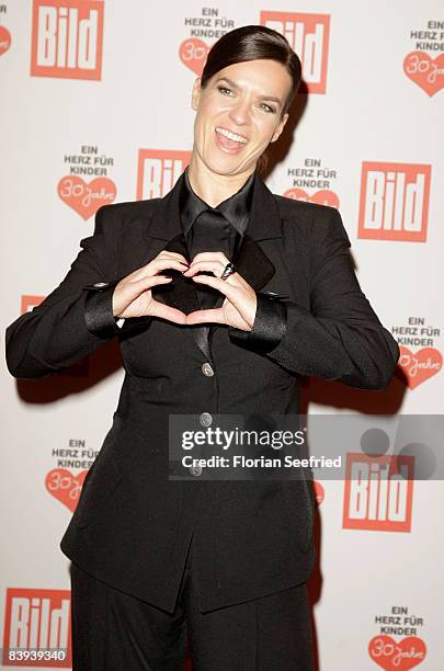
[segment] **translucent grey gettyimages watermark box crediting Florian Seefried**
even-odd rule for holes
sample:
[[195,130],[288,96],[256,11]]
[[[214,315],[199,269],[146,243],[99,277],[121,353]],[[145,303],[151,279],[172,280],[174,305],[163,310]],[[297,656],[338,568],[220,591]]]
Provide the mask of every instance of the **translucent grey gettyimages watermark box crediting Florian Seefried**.
[[170,479],[440,479],[444,416],[171,414]]

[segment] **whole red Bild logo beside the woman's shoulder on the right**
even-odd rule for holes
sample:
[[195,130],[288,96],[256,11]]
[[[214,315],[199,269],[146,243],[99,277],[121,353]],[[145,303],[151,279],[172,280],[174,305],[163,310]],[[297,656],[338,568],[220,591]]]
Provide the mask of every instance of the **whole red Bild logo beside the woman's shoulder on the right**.
[[363,162],[358,238],[425,242],[431,166]]

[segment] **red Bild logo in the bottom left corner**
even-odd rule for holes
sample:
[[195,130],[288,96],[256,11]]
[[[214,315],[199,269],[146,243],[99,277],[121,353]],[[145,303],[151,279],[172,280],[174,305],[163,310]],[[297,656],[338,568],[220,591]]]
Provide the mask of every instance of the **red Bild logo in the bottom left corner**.
[[70,592],[9,588],[5,598],[5,667],[71,667]]

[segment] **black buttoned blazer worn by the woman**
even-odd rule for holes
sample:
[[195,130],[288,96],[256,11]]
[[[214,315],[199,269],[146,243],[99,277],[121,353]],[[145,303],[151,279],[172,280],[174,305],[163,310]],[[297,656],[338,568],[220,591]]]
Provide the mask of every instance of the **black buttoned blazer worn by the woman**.
[[[94,235],[81,241],[61,284],[8,328],[7,360],[15,377],[41,377],[119,338],[126,374],[118,407],[60,547],[91,575],[172,611],[194,534],[208,611],[308,578],[312,488],[297,480],[168,480],[169,414],[195,414],[198,429],[203,412],[297,413],[299,375],[383,389],[399,349],[360,288],[339,213],[273,195],[259,178],[236,265],[255,291],[288,297],[277,346],[260,346],[270,323],[266,294],[253,329],[259,340],[157,318],[127,319],[118,329],[111,310],[118,278],[166,247],[185,250],[182,179],[164,198],[98,212]],[[174,281],[159,296],[184,312],[198,309],[191,281]],[[215,375],[203,373],[205,362]]]

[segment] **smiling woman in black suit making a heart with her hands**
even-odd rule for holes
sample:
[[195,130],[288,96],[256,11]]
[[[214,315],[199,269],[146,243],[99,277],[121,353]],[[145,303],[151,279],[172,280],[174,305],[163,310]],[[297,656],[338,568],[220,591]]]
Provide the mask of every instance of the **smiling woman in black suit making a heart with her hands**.
[[[61,541],[73,669],[312,668],[308,481],[168,479],[169,419],[297,413],[298,375],[382,389],[398,346],[360,289],[339,213],[270,193],[258,162],[300,80],[286,39],[225,35],[192,95],[189,169],[99,211],[62,283],[7,332],[38,377],[118,336],[113,425]],[[190,481],[191,480],[191,481]],[[185,629],[185,624],[187,629]]]

